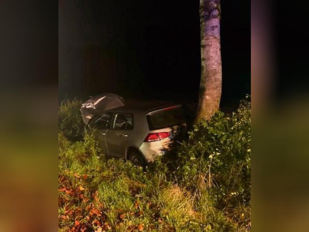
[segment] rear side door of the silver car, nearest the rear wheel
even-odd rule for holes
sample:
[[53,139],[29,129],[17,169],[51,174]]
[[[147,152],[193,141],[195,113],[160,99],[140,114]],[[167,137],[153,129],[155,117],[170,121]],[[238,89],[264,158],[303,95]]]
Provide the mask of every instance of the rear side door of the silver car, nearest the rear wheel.
[[124,157],[126,142],[132,130],[132,114],[116,113],[111,129],[106,132],[106,146],[109,156]]

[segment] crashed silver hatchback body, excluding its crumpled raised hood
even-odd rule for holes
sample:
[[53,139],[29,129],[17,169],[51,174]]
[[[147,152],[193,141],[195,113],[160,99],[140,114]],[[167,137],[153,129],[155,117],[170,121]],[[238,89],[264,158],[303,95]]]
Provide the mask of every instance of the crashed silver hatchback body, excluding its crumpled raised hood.
[[166,101],[122,104],[92,116],[87,122],[97,129],[102,151],[110,157],[121,157],[145,167],[164,154],[177,133],[187,127],[188,115],[183,105]]

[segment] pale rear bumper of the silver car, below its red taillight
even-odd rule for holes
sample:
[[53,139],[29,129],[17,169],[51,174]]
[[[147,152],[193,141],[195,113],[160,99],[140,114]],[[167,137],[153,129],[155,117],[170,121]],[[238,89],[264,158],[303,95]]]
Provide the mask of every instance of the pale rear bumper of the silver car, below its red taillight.
[[156,157],[166,152],[166,148],[162,146],[161,141],[143,142],[138,149],[143,154],[147,163],[153,162]]

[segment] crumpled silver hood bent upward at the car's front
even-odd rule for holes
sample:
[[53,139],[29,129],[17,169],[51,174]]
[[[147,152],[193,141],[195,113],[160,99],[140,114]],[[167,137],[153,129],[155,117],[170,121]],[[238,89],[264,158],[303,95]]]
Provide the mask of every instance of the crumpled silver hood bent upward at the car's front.
[[83,103],[80,112],[82,114],[83,122],[87,125],[93,116],[123,105],[125,105],[123,98],[117,94],[102,93],[95,97],[91,97]]

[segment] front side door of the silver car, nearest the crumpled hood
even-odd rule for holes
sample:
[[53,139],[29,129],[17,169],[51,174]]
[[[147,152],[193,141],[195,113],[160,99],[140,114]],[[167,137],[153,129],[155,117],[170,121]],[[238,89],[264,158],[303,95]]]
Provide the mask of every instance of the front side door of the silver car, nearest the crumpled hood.
[[110,127],[111,120],[112,119],[112,113],[103,113],[97,118],[95,118],[95,121],[92,123],[96,131],[96,139],[99,141],[99,145],[102,149],[103,154],[108,154],[107,146],[106,146],[106,131]]

